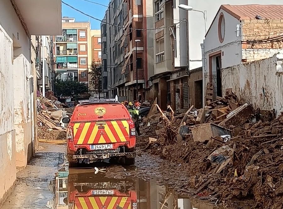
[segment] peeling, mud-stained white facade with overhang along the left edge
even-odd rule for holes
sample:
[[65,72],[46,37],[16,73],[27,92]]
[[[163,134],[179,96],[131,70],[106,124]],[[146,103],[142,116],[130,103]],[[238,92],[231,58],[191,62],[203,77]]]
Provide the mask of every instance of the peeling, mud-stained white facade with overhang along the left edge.
[[35,149],[36,70],[31,35],[62,33],[61,0],[0,2],[0,204]]

